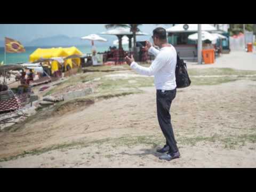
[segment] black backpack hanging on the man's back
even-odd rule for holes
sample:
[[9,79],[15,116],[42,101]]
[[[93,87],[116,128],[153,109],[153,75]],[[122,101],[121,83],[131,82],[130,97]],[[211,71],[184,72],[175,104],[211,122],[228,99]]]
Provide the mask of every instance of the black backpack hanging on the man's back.
[[175,75],[176,75],[177,89],[190,86],[191,81],[188,76],[187,65],[183,61],[183,59],[180,59],[179,55],[177,55],[177,65],[176,65]]

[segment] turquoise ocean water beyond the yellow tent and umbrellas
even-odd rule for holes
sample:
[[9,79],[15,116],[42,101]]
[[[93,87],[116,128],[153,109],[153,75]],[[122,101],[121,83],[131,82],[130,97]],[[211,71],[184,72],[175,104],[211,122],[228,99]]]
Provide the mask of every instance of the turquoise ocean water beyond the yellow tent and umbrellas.
[[[58,47],[58,46],[56,46]],[[82,53],[91,53],[91,46],[76,46]],[[25,53],[6,53],[6,64],[13,64],[19,62],[28,62],[29,55],[33,53],[39,47],[25,47]],[[51,48],[51,47],[40,47],[40,48]],[[105,52],[109,49],[109,46],[97,46],[98,52]],[[124,50],[127,50],[127,47],[124,46]],[[4,47],[0,47],[0,63],[4,61]]]

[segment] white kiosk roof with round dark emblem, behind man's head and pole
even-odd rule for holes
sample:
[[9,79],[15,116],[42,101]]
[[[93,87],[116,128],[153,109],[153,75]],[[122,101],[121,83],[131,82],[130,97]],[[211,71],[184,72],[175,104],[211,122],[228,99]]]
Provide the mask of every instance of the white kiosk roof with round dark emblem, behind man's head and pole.
[[[217,31],[217,28],[209,24],[201,24],[202,31]],[[167,33],[191,33],[198,31],[198,24],[178,24],[166,29]]]

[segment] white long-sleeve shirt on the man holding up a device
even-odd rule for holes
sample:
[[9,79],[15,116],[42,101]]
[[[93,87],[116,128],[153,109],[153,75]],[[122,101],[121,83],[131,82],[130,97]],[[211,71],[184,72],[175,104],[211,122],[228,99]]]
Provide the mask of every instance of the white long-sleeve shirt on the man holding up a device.
[[142,67],[136,62],[131,68],[140,75],[153,76],[157,90],[176,89],[175,69],[177,65],[177,52],[173,46],[163,47],[160,51],[151,46],[148,50],[156,56],[150,67]]

